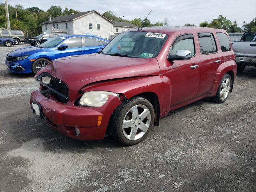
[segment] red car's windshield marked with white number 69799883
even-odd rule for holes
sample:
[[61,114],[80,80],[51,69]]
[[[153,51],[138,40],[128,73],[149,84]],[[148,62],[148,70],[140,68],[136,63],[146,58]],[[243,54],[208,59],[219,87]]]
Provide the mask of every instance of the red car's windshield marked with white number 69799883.
[[103,54],[136,58],[154,58],[168,35],[154,32],[124,32],[116,36],[102,50]]

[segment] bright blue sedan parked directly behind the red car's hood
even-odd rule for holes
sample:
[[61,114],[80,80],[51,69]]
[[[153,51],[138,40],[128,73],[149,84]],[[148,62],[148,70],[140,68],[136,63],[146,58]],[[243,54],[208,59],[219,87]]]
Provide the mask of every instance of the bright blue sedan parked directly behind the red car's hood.
[[34,73],[51,60],[82,54],[96,53],[109,41],[91,35],[60,35],[40,46],[26,47],[6,55],[7,69],[14,73]]

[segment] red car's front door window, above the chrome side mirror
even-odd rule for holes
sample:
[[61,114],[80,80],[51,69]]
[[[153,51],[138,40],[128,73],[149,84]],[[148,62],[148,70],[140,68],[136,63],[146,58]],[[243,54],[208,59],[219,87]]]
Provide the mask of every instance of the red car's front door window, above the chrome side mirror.
[[195,55],[195,44],[192,34],[179,36],[172,44],[168,55],[176,55],[177,50],[189,50],[191,55]]

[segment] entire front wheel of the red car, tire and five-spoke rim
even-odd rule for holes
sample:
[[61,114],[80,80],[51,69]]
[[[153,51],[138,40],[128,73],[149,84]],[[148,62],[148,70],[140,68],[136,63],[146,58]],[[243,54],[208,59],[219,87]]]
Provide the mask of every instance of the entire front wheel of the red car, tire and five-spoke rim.
[[138,96],[122,104],[116,114],[113,137],[127,146],[142,142],[148,136],[155,116],[152,104]]

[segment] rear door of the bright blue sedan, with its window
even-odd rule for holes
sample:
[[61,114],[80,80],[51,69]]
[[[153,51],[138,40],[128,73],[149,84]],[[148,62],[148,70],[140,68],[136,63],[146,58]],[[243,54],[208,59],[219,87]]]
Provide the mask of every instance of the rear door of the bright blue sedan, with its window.
[[104,48],[104,45],[102,45],[100,43],[100,40],[98,40],[97,38],[85,37],[84,40],[84,54],[97,53],[102,50],[102,48]]

